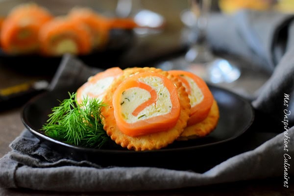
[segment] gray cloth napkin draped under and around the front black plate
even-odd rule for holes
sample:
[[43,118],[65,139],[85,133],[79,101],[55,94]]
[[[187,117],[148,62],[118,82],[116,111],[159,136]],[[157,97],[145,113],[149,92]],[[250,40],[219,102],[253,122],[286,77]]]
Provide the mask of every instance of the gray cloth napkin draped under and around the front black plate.
[[[252,32],[256,26],[259,26],[260,20],[249,20],[251,15],[247,12],[244,12],[242,16],[248,20],[246,28],[244,27],[245,29],[248,28],[248,32]],[[231,20],[238,20],[238,17],[238,15],[230,18],[220,16],[218,20],[228,20],[226,23],[232,24],[232,29],[235,30],[236,26],[240,24],[230,22]],[[256,18],[266,20],[263,14],[257,14]],[[288,16],[281,18],[286,19]],[[285,23],[285,20],[280,20],[281,18],[278,17],[276,20],[280,21],[280,23],[275,22],[276,28],[280,28],[281,23]],[[269,20],[270,24],[273,20]],[[236,25],[234,28],[233,24]],[[275,29],[271,25],[270,28]],[[288,25],[290,26],[291,23],[289,22]],[[223,27],[220,28],[223,29]],[[221,29],[219,30],[220,35]],[[261,30],[263,29],[267,28]],[[250,35],[247,34],[247,37],[250,37]],[[257,38],[260,37],[255,37],[253,41]],[[270,60],[272,54],[270,55],[267,48],[270,46],[269,41],[271,42],[269,39],[270,37],[267,40],[259,40],[259,43],[264,42],[260,45],[262,49],[259,50],[263,52],[259,54],[251,51],[252,48],[249,46],[252,44],[252,40],[247,42],[242,38],[244,43],[239,46],[240,48],[248,46],[250,49],[247,51],[250,50],[253,56],[260,59],[259,65],[263,65],[262,62],[264,62],[266,64],[263,66],[269,66],[269,69],[273,72],[269,81],[258,91],[258,97],[252,102],[252,105],[256,111],[271,116],[275,121],[266,122],[268,126],[263,126],[262,123],[265,122],[260,122],[259,128],[251,131],[275,132],[277,134],[272,134],[272,137],[258,147],[245,149],[245,152],[229,157],[204,172],[192,171],[189,168],[173,170],[159,167],[102,167],[97,163],[76,161],[70,157],[64,157],[58,151],[45,146],[27,130],[24,130],[10,145],[12,151],[0,159],[0,187],[67,192],[111,192],[175,189],[268,177],[280,177],[281,181],[290,182],[292,180],[290,176],[294,175],[294,163],[292,161],[294,158],[294,49],[285,49],[285,54],[275,64],[274,61]],[[274,38],[271,37],[271,39]],[[226,44],[229,52],[232,51],[229,46],[236,47],[234,44],[225,42],[225,40],[222,41],[219,46]],[[240,40],[236,39],[237,41]],[[228,42],[231,42],[231,40]],[[75,72],[71,65],[75,65],[76,69],[81,70]],[[71,73],[68,77],[75,78],[72,80],[74,83],[77,81],[84,82],[89,74],[98,71],[91,69],[72,56],[65,56],[56,77],[52,81],[50,90],[58,88],[58,84],[70,85],[72,83],[69,79],[63,80],[62,73],[66,73],[65,75]],[[58,80],[63,80],[63,82],[59,83]],[[289,95],[289,99],[288,96],[285,98],[285,94]],[[287,101],[285,105],[284,101]],[[255,137],[249,138],[248,144],[258,140],[258,135],[253,134],[253,136]],[[218,148],[215,148],[215,150],[217,151]],[[223,152],[218,153],[221,156]],[[174,157],[174,160],[178,161],[177,157]],[[187,160],[189,159],[187,158]]]

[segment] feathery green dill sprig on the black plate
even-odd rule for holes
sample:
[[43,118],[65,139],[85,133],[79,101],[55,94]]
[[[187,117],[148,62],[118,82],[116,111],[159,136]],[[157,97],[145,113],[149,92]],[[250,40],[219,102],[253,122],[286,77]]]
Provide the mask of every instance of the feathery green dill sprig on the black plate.
[[47,123],[41,128],[45,135],[56,140],[81,146],[100,148],[109,139],[103,129],[101,107],[105,106],[97,98],[84,98],[78,104],[76,93],[68,93],[70,98],[60,101],[52,108]]

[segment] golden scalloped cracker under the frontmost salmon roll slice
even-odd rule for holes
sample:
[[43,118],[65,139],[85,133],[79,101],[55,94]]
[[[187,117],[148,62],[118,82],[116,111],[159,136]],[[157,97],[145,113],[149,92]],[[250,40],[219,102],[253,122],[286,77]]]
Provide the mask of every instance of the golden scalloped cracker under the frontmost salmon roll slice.
[[[171,79],[177,87],[181,110],[179,119],[173,128],[163,132],[131,137],[123,134],[116,125],[114,109],[112,105],[112,98],[117,86],[124,79],[126,79],[132,74],[141,72],[156,72],[165,75],[169,79]],[[107,90],[107,94],[104,97],[104,102],[108,104],[101,110],[101,115],[103,116],[104,130],[107,132],[110,138],[113,141],[115,141],[118,145],[136,151],[160,149],[162,147],[168,146],[173,141],[175,141],[187,125],[191,108],[190,99],[188,98],[188,94],[186,93],[185,88],[182,86],[182,83],[172,74],[169,74],[168,72],[156,68],[128,68],[124,71],[124,74],[118,77],[116,81],[114,81],[114,83],[111,85],[111,87]]]

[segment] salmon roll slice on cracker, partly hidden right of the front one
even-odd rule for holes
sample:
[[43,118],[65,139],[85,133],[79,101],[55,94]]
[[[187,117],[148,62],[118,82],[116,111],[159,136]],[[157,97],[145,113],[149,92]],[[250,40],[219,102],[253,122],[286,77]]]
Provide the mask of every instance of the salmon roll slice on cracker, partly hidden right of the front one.
[[182,81],[190,98],[190,117],[181,139],[206,136],[215,129],[219,120],[218,105],[207,84],[191,72],[171,70],[169,73]]

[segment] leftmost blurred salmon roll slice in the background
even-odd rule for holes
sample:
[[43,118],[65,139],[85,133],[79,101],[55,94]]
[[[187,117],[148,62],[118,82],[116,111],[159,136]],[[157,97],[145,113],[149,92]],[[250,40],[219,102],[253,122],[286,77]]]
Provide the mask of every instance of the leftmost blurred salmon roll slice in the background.
[[14,7],[4,20],[0,33],[2,49],[9,54],[38,52],[40,28],[53,19],[49,11],[35,3]]

